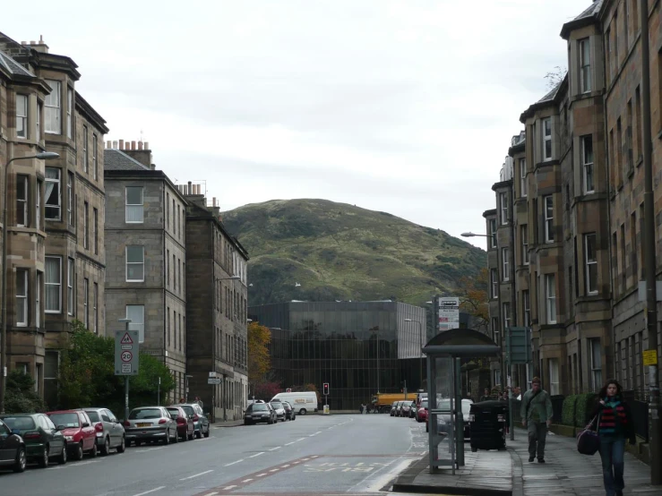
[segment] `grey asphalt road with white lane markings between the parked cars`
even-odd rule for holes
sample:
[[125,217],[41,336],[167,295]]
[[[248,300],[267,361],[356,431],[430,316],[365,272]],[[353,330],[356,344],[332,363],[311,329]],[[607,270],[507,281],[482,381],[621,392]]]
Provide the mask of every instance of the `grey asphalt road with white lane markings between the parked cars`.
[[389,415],[217,427],[207,439],[0,472],[0,496],[365,496],[426,452],[425,434],[425,423]]

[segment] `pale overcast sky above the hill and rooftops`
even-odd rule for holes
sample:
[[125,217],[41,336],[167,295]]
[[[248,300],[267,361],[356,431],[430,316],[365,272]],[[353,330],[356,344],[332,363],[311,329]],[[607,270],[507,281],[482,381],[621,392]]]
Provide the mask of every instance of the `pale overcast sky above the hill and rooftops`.
[[485,233],[520,114],[590,3],[33,0],[0,31],[73,58],[106,140],[149,141],[221,210],[322,198],[460,236]]

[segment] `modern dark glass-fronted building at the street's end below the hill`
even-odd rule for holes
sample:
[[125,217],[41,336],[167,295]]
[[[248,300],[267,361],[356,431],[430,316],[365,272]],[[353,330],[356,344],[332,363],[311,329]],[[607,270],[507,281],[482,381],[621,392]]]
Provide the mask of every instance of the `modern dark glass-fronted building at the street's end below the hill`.
[[[285,388],[329,382],[332,410],[368,403],[377,391],[414,391],[426,339],[426,310],[397,302],[290,302],[253,306],[271,328],[271,365]],[[425,359],[422,361],[425,377]],[[323,399],[323,398],[322,398]]]

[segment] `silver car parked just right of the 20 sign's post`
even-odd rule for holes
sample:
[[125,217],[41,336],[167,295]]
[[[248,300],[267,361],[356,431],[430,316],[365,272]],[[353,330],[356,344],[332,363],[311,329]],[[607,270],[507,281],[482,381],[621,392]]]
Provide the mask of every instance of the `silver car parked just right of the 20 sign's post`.
[[126,442],[140,446],[143,441],[177,442],[177,424],[164,406],[133,408],[125,420]]

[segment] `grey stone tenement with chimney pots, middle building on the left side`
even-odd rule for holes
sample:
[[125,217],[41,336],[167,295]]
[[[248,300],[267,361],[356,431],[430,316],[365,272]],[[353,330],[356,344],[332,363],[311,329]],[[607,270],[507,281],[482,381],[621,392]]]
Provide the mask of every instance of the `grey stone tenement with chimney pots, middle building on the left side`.
[[172,372],[176,401],[186,376],[186,200],[155,169],[149,143],[107,143],[106,329],[132,320],[141,351]]

